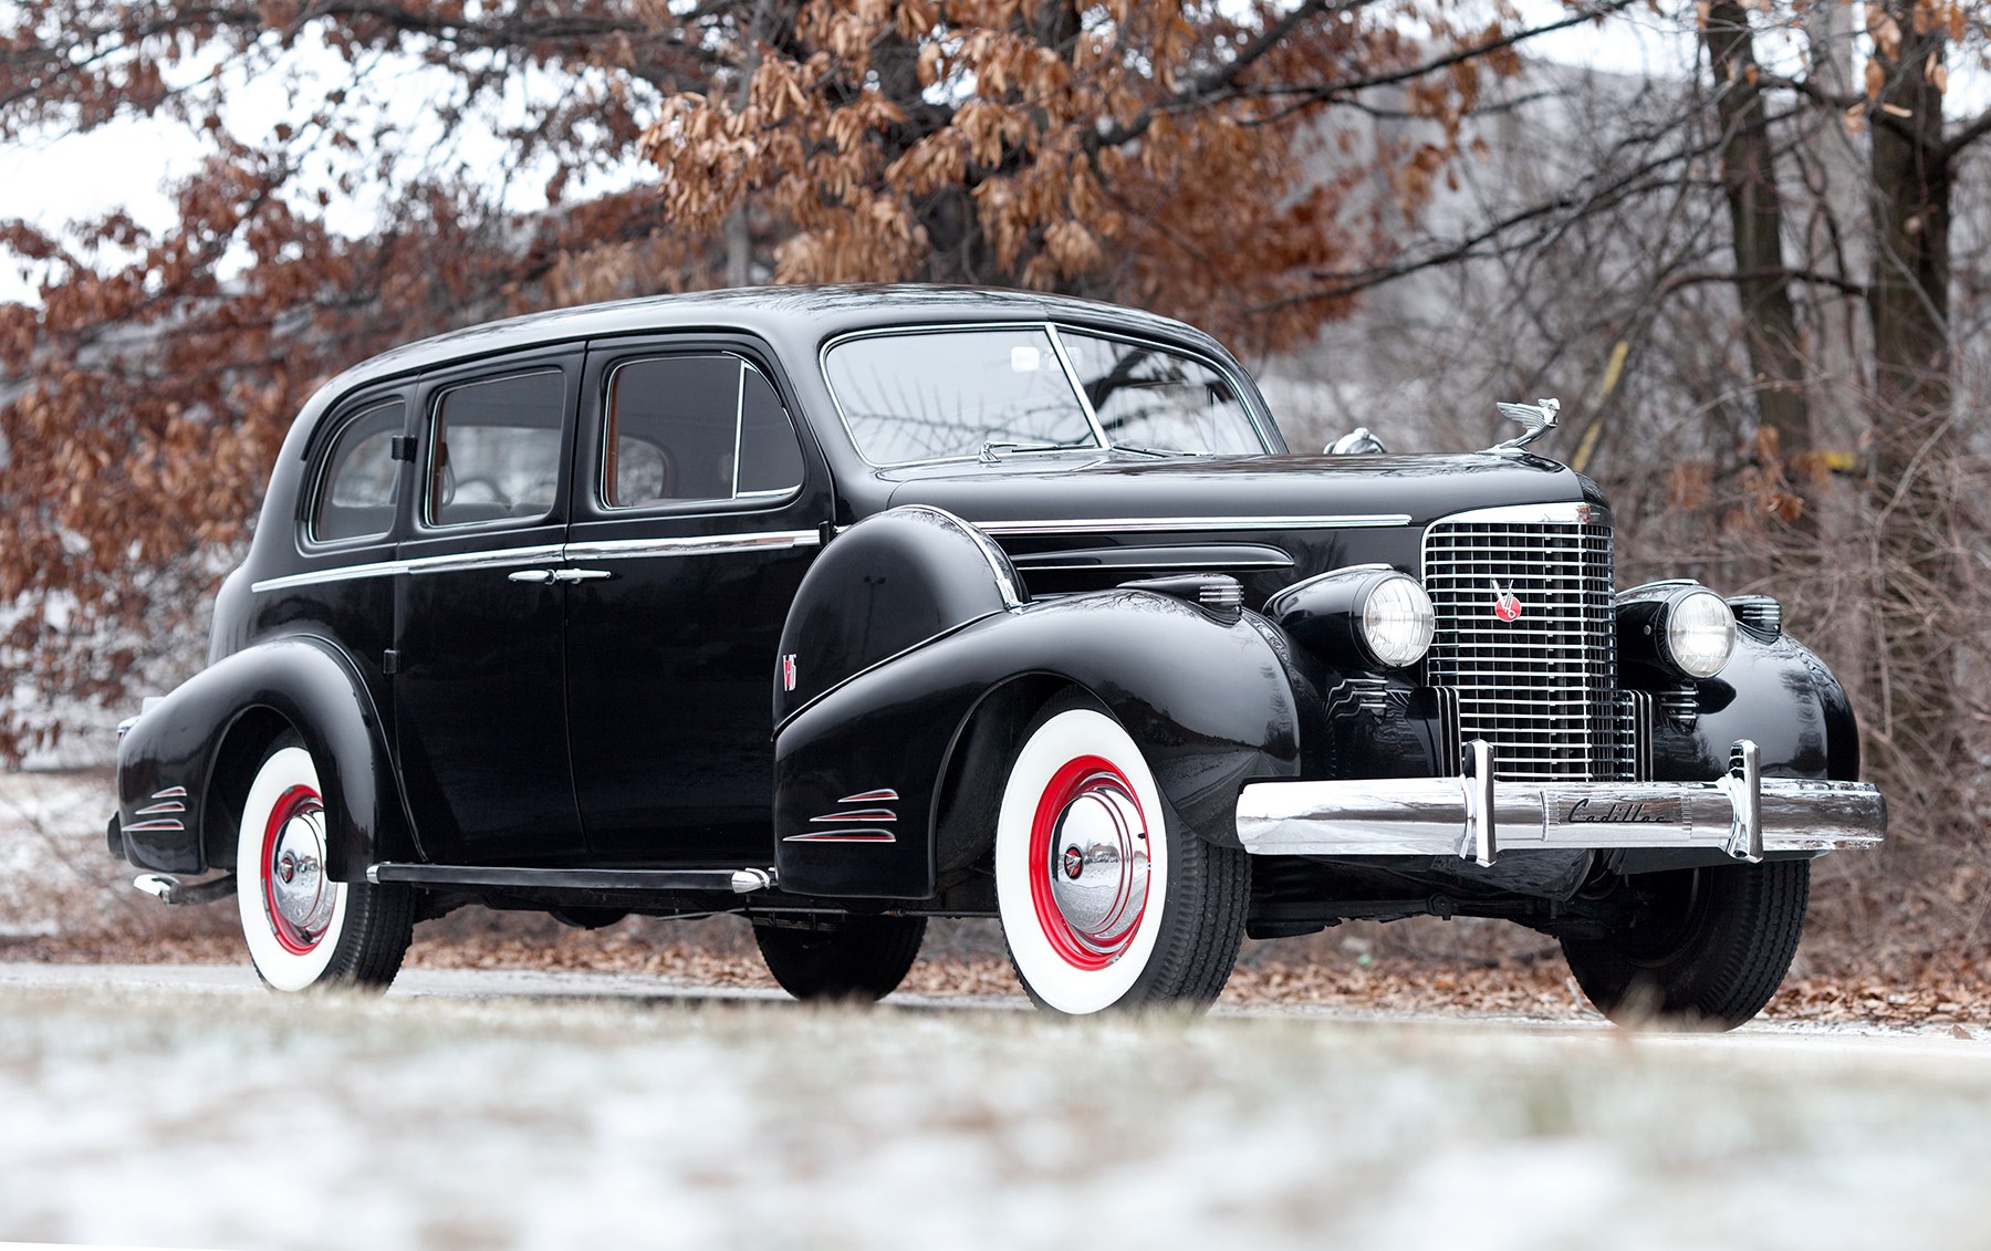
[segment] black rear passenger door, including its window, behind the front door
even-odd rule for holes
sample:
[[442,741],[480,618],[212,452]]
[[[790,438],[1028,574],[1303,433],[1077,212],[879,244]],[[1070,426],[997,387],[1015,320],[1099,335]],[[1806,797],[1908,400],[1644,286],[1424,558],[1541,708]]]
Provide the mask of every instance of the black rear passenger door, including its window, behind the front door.
[[426,376],[394,612],[408,809],[438,863],[585,853],[567,765],[563,570],[579,353]]

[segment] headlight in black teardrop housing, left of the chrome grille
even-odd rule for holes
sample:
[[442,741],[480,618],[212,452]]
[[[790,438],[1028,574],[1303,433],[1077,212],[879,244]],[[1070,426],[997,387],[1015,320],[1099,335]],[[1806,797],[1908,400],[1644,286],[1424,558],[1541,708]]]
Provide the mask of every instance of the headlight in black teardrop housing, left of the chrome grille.
[[1438,626],[1424,586],[1384,564],[1294,582],[1266,600],[1264,616],[1328,663],[1362,669],[1408,669]]

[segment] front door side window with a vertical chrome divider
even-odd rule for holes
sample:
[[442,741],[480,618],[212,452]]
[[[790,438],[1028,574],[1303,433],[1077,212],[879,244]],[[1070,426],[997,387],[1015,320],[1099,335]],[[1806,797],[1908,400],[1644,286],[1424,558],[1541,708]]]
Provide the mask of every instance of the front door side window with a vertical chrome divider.
[[609,508],[780,496],[802,484],[802,450],[780,394],[739,357],[617,365],[603,448]]

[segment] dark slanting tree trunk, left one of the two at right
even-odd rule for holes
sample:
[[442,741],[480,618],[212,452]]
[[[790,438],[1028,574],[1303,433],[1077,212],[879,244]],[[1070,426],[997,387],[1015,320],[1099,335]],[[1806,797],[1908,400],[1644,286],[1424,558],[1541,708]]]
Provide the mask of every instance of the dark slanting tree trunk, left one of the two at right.
[[1756,42],[1736,0],[1708,8],[1702,36],[1714,66],[1714,108],[1722,124],[1722,191],[1736,257],[1742,341],[1756,382],[1756,414],[1776,432],[1782,456],[1808,452],[1812,414],[1804,394],[1798,315],[1784,265],[1784,201],[1776,189],[1770,110],[1756,82]]

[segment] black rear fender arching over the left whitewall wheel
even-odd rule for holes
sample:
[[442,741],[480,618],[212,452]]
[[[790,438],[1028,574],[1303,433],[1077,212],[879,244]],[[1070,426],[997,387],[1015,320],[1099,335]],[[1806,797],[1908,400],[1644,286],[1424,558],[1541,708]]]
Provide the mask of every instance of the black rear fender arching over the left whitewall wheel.
[[[231,867],[235,805],[269,743],[293,729],[325,795],[329,871],[358,880],[414,853],[386,731],[352,663],[293,635],[227,655],[151,705],[117,745],[125,859],[163,873]],[[179,811],[173,809],[179,805]]]

